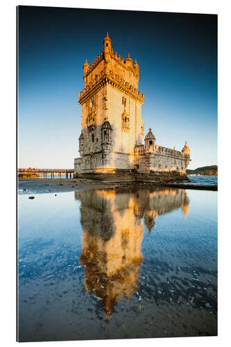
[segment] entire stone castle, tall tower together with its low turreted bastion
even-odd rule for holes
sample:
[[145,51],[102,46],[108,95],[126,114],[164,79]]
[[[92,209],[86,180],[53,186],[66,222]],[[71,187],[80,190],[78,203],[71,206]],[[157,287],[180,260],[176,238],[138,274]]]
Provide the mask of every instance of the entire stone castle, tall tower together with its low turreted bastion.
[[113,51],[108,33],[99,56],[91,65],[85,61],[83,80],[84,90],[78,94],[82,130],[75,177],[130,170],[185,174],[191,161],[187,142],[182,151],[160,146],[149,128],[142,144],[144,94],[138,91],[139,65],[129,53],[123,59]]

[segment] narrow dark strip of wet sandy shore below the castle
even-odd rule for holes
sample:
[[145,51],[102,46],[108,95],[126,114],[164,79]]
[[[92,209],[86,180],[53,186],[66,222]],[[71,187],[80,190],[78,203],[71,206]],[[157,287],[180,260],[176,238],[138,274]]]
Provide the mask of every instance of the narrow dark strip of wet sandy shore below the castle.
[[116,187],[128,187],[128,185],[140,187],[176,187],[184,189],[203,189],[203,190],[217,190],[217,186],[196,186],[184,185],[184,183],[161,183],[155,182],[134,182],[117,181],[105,182],[90,180],[87,178],[19,178],[18,189],[19,194],[37,194],[37,193],[58,193],[58,192],[73,192],[83,189],[114,189]]

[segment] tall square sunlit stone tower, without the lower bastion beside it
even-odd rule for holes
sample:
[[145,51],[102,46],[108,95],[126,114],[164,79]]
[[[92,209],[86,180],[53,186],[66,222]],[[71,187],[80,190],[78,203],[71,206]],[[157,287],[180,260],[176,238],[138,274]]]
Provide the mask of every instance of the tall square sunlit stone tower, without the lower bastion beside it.
[[107,33],[103,51],[83,65],[84,90],[78,94],[82,132],[75,171],[133,169],[135,145],[142,142],[144,94],[138,92],[139,66],[130,54],[117,56]]

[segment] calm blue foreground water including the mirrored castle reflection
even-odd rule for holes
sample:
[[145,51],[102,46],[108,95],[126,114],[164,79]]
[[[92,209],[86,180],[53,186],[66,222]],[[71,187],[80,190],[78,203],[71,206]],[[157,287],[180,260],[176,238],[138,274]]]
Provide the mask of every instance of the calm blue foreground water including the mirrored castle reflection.
[[217,194],[19,195],[19,341],[217,334]]

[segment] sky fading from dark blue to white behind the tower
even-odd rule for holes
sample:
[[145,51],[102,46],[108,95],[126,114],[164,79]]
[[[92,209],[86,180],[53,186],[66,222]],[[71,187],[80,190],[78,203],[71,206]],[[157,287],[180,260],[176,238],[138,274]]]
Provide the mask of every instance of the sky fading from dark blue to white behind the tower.
[[189,169],[217,164],[217,16],[19,6],[18,166],[72,168],[83,64],[112,47],[139,65],[144,132]]

